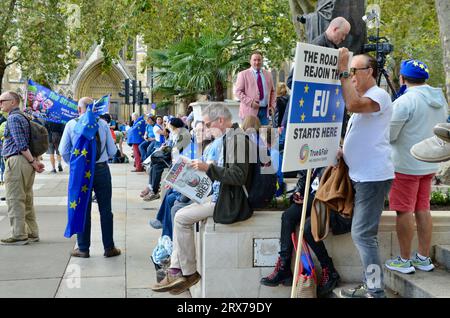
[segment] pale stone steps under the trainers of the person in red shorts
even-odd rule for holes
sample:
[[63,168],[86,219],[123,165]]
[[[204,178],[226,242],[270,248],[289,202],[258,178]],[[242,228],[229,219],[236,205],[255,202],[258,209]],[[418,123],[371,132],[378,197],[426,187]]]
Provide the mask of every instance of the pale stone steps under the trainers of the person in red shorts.
[[442,268],[401,274],[384,269],[386,287],[404,298],[450,298],[450,275]]

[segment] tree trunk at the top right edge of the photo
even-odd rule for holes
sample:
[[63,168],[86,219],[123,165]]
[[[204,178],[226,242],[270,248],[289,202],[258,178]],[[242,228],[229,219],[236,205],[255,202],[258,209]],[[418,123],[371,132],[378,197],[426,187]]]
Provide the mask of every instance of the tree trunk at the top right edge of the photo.
[[450,16],[450,2],[448,0],[436,0],[435,4],[443,49],[445,87],[447,100],[450,102],[450,20],[448,19]]

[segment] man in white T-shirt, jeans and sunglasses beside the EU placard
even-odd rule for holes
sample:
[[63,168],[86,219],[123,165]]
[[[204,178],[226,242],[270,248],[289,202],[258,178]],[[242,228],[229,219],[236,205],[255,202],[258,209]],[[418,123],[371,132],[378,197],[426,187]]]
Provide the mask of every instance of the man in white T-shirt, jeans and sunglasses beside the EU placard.
[[339,49],[339,78],[348,111],[343,158],[355,191],[352,239],[363,265],[364,284],[342,289],[346,298],[384,298],[383,268],[378,249],[378,224],[394,179],[389,127],[392,102],[376,85],[377,62],[369,55],[356,55],[348,67],[349,51]]

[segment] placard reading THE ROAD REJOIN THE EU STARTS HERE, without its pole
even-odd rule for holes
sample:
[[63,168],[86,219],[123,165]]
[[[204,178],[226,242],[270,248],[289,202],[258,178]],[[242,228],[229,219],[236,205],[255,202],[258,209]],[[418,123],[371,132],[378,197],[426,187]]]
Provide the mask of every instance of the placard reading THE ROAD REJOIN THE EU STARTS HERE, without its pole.
[[335,161],[345,111],[338,56],[335,49],[297,43],[283,172]]

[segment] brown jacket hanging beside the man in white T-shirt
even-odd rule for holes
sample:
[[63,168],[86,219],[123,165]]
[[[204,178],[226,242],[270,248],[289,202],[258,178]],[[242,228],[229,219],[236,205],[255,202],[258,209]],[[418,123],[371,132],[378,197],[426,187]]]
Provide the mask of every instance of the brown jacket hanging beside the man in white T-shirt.
[[330,211],[351,218],[353,214],[353,186],[348,167],[340,160],[337,167],[328,167],[320,180],[311,209],[311,231],[316,241],[326,238],[330,225]]

